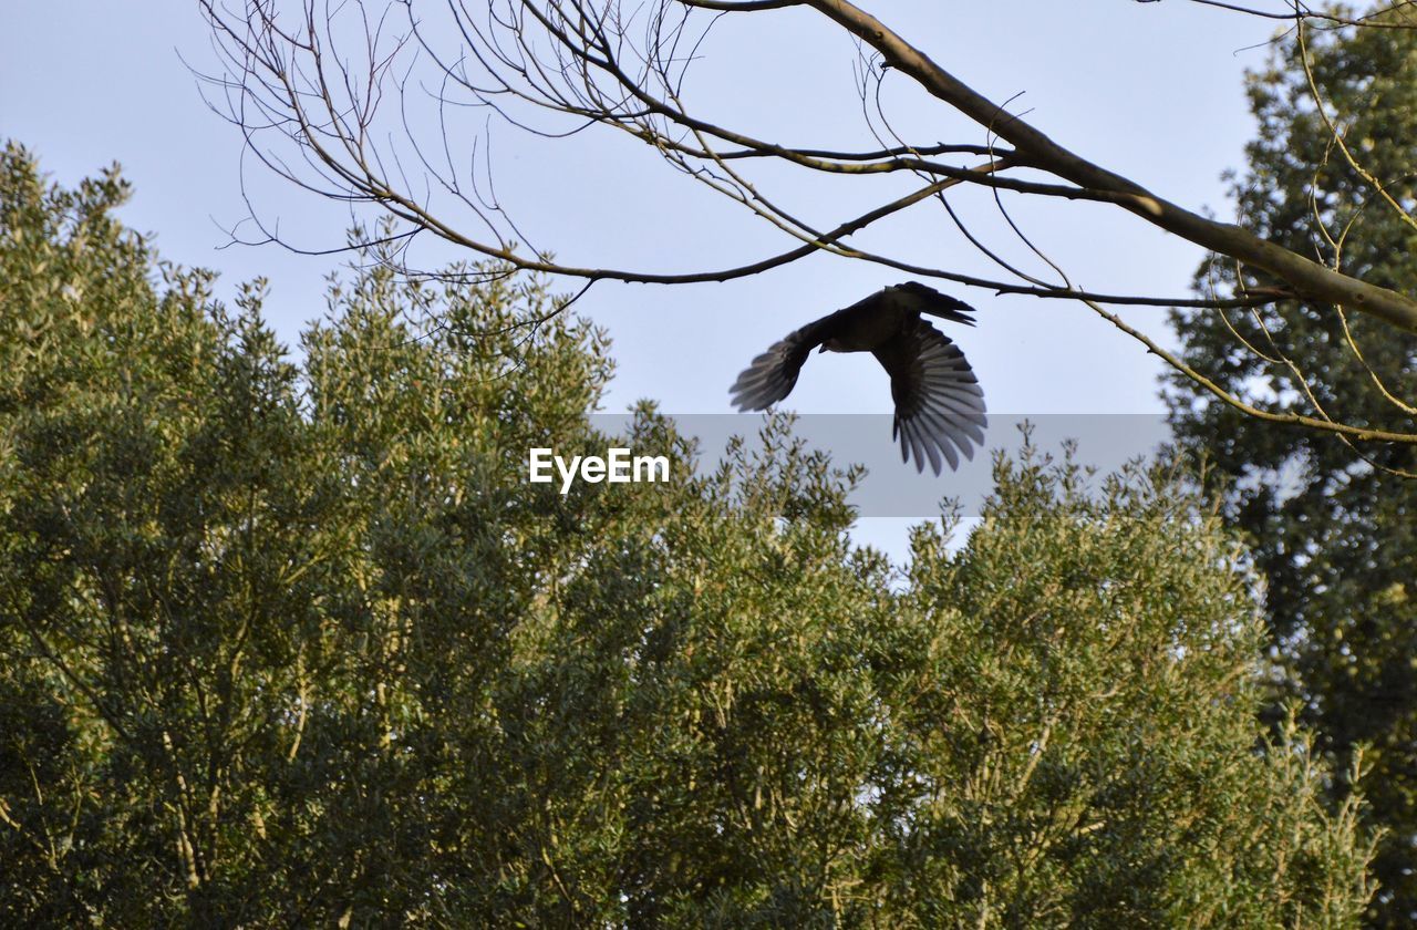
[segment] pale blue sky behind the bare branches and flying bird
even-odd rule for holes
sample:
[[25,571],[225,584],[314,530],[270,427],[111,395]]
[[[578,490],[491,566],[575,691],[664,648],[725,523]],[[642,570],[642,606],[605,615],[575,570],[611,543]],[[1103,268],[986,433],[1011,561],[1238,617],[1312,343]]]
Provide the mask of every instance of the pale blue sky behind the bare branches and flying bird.
[[[1243,74],[1264,65],[1271,23],[1182,0],[863,6],[990,99],[1013,98],[1013,112],[1027,111],[1036,128],[1064,146],[1175,203],[1230,217],[1221,176],[1243,169],[1253,133]],[[789,143],[864,138],[852,91],[856,48],[823,17],[809,10],[726,17],[701,55],[690,91],[704,112]],[[203,101],[188,65],[218,67],[194,3],[6,0],[0,136],[30,147],[64,184],[120,163],[136,189],[122,214],[126,223],[153,234],[163,257],[220,271],[218,293],[228,298],[241,281],[269,279],[268,319],[293,346],[302,325],[324,310],[324,279],[340,259],[278,245],[231,245],[228,230],[245,217],[244,194],[312,248],[339,245],[347,215],[299,196],[249,159],[244,164],[239,135]],[[907,79],[893,79],[887,92],[893,122],[908,138],[982,142],[978,129]],[[568,264],[696,271],[794,244],[632,140],[591,133],[548,142],[489,126],[499,197],[537,245]],[[828,227],[869,203],[859,187],[823,187],[771,169],[764,179],[774,196]],[[1196,247],[1115,208],[1009,203],[1076,285],[1187,295],[1202,258]],[[962,196],[961,210],[1010,258],[1030,261],[1016,241],[1003,238],[986,198]],[[1000,276],[938,210],[873,232],[869,244]],[[431,261],[455,258],[472,257],[451,248],[431,252]],[[727,284],[602,282],[577,310],[608,327],[614,340],[616,377],[606,410],[649,397],[672,415],[726,414],[728,384],[757,353],[802,323],[901,279],[888,268],[818,255]],[[951,335],[972,362],[992,413],[1162,410],[1159,360],[1087,308],[941,289],[979,309],[973,330]],[[1135,309],[1127,319],[1175,344],[1165,310]],[[891,400],[871,360],[819,356],[803,370],[791,407],[805,414],[884,414]],[[1003,437],[990,434],[995,439]],[[880,441],[888,444],[888,435]],[[935,481],[949,493],[949,472]],[[901,533],[891,522],[866,530],[887,549],[898,549]]]

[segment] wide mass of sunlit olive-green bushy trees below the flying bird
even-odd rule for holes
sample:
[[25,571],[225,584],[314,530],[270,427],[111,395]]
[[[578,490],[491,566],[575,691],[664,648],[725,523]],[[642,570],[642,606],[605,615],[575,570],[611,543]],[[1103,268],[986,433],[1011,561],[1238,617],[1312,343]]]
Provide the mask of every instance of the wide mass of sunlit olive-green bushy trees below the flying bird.
[[293,362],[116,173],[0,179],[4,923],[1362,912],[1360,801],[1264,736],[1254,580],[1178,472],[1000,459],[905,574],[781,418],[696,475],[645,407],[672,479],[563,496],[526,451],[612,441],[609,360],[513,325],[538,285],[367,262]]

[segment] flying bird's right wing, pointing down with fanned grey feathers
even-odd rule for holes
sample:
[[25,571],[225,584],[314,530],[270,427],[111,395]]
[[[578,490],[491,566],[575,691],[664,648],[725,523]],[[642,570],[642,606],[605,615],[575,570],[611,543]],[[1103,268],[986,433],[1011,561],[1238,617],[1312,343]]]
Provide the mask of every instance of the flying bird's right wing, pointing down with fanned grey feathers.
[[983,390],[959,346],[925,320],[913,319],[873,354],[890,374],[893,437],[900,439],[901,461],[914,456],[915,471],[924,471],[928,459],[938,475],[941,458],[949,468],[959,466],[959,452],[973,458],[989,421]]

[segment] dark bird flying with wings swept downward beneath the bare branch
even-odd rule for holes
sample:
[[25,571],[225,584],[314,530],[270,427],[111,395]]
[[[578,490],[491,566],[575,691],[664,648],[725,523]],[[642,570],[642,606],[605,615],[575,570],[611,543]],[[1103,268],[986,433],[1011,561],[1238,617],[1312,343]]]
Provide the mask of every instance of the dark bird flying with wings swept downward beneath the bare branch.
[[948,336],[924,316],[973,326],[972,306],[908,281],[813,320],[755,357],[728,388],[740,411],[767,410],[792,393],[802,366],[819,352],[870,352],[890,374],[896,418],[891,439],[900,458],[914,456],[938,476],[942,462],[959,468],[959,455],[973,459],[989,425],[983,388],[973,369]]

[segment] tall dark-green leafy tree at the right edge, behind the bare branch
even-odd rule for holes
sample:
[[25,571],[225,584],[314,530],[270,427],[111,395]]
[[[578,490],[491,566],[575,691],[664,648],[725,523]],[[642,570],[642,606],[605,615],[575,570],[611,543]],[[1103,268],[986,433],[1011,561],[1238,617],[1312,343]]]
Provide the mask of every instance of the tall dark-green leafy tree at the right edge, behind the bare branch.
[[[1306,58],[1302,52],[1306,51]],[[1331,31],[1277,54],[1250,82],[1260,135],[1236,183],[1247,225],[1380,286],[1411,291],[1417,230],[1417,41],[1406,30]],[[1323,108],[1315,101],[1322,101]],[[1326,112],[1325,112],[1326,111]],[[1332,113],[1345,113],[1335,136]],[[1350,162],[1352,150],[1362,163]],[[1323,237],[1308,228],[1316,218]],[[1241,288],[1226,262],[1206,286]],[[1246,313],[1180,312],[1183,356],[1221,387],[1274,413],[1321,407],[1345,422],[1410,428],[1401,398],[1417,386],[1417,339],[1359,315],[1285,301]],[[1390,834],[1376,862],[1373,926],[1417,919],[1417,600],[1413,564],[1417,471],[1410,447],[1363,447],[1260,428],[1175,383],[1173,420],[1236,483],[1229,512],[1267,581],[1270,632],[1288,663],[1289,695],[1338,760],[1370,746],[1366,797]],[[1350,785],[1339,783],[1339,794]]]

